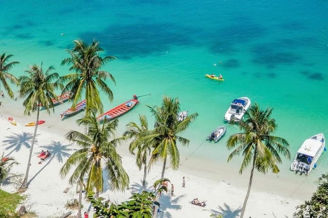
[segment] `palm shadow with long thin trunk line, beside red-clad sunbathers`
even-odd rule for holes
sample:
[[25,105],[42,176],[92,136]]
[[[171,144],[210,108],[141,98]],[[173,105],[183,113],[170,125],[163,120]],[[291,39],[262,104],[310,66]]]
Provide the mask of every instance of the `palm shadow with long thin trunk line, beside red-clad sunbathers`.
[[[49,165],[49,163],[56,158],[58,162],[63,162],[63,157],[69,157],[71,154],[68,153],[69,151],[72,151],[73,149],[68,148],[69,146],[72,146],[72,144],[63,145],[59,141],[52,141],[49,146],[40,146],[40,148],[44,148],[45,150],[48,150],[50,152],[51,158],[49,160],[45,159],[44,161],[40,160],[39,163],[47,162],[42,168],[39,169],[39,171],[28,181],[28,185],[35,179],[35,177],[43,171],[46,166]],[[39,154],[39,152],[37,152]]]

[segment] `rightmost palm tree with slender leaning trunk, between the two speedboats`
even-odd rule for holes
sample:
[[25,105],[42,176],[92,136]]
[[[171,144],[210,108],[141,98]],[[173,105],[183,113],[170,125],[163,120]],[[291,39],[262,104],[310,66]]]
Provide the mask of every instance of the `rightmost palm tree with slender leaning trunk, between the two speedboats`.
[[250,195],[254,168],[262,174],[268,173],[269,169],[273,173],[279,173],[277,163],[282,162],[279,154],[291,158],[288,150],[289,143],[281,137],[272,135],[277,128],[276,120],[270,117],[272,110],[268,107],[263,111],[257,104],[252,105],[250,110],[245,113],[245,119],[238,120],[239,128],[243,132],[231,135],[227,141],[227,148],[234,149],[228,157],[228,162],[242,152],[243,161],[239,169],[240,174],[251,164],[251,176],[241,209],[241,218]]

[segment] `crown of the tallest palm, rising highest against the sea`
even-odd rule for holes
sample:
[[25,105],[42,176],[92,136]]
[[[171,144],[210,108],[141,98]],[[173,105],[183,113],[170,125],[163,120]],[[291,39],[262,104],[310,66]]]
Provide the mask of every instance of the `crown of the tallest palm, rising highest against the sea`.
[[75,47],[72,50],[66,50],[71,57],[65,58],[61,65],[70,64],[69,70],[72,74],[59,78],[61,83],[66,83],[63,93],[71,91],[73,106],[81,100],[83,91],[87,100],[86,114],[90,110],[103,112],[103,104],[100,101],[98,87],[104,91],[109,100],[113,100],[113,92],[105,83],[106,79],[111,79],[114,84],[114,77],[107,71],[101,70],[109,60],[116,59],[112,56],[104,58],[99,56],[99,52],[104,50],[99,47],[99,42],[93,41],[91,45],[84,43],[82,40],[74,40]]

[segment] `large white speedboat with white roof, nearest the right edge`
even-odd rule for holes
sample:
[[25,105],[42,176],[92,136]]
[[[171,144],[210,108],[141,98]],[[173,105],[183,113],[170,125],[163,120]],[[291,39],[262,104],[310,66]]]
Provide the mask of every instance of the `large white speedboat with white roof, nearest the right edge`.
[[324,150],[323,133],[316,134],[306,139],[298,149],[295,159],[291,165],[291,170],[301,174],[309,174]]

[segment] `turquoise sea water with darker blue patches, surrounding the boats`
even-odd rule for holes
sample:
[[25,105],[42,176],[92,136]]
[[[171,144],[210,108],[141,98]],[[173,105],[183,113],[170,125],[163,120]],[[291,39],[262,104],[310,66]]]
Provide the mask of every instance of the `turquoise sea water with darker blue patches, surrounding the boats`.
[[[109,82],[114,101],[104,98],[105,110],[151,93],[119,118],[120,132],[138,114],[151,123],[146,105],[160,105],[163,95],[179,98],[181,110],[198,112],[182,133],[191,140],[181,148],[182,163],[195,156],[226,164],[224,144],[238,127],[228,125],[216,144],[205,138],[241,96],[274,108],[276,135],[290,142],[292,158],[304,139],[319,132],[328,138],[328,1],[16,0],[0,6],[0,53],[20,62],[12,69],[16,76],[42,62],[66,74],[60,62],[78,38],[99,40],[103,55],[117,57],[105,68],[116,80]],[[212,73],[225,81],[204,77]],[[283,159],[280,176],[297,180],[291,162]],[[238,158],[232,163],[236,174],[239,164]],[[317,165],[310,183],[328,172],[327,153]]]

